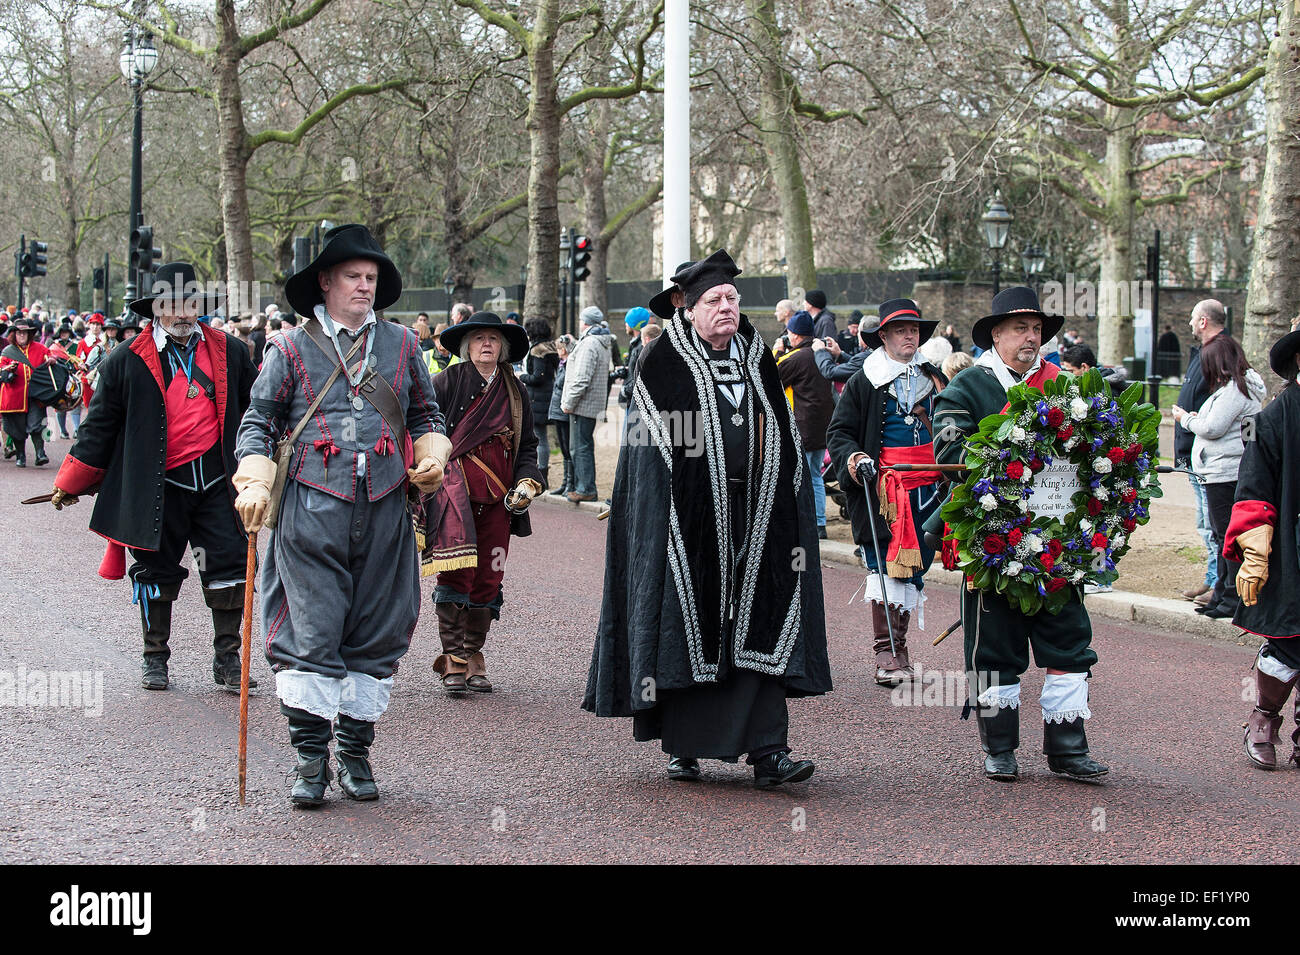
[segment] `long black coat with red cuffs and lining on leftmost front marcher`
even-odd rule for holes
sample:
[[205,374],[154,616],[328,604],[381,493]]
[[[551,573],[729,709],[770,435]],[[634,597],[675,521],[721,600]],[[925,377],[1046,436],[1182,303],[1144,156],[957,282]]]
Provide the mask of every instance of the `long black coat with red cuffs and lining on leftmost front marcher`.
[[[235,433],[248,409],[257,369],[248,346],[224,331],[203,329],[212,363],[221,457],[234,508]],[[55,486],[69,494],[99,487],[90,529],[127,547],[156,551],[162,533],[162,482],[166,472],[166,405],[162,364],[148,325],[130,344],[114,348],[99,366],[99,387],[64,459]]]

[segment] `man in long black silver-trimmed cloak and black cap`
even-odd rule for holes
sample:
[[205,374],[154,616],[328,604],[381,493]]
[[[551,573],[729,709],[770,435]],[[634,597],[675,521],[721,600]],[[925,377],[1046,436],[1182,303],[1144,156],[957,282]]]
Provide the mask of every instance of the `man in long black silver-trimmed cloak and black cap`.
[[807,780],[786,696],[831,690],[812,486],[776,361],[715,252],[650,303],[615,476],[582,708],[662,739],[668,774],[749,754],[759,787]]

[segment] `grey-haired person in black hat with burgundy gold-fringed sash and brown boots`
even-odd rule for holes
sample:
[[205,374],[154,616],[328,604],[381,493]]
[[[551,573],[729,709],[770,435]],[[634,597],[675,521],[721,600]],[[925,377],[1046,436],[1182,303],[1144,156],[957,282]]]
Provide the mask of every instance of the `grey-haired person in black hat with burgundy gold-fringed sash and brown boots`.
[[526,508],[542,492],[533,408],[511,369],[528,334],[494,312],[474,312],[442,333],[462,361],[433,379],[447,416],[451,456],[425,503],[424,573],[437,573],[442,654],[433,669],[448,693],[491,691],[484,644],[500,618],[510,538],[533,533]]

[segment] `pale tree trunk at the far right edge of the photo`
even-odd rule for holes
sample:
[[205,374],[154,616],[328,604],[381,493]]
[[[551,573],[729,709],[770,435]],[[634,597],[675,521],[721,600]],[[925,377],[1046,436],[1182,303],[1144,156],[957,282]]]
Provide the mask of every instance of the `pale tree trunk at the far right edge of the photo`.
[[1300,314],[1300,25],[1295,13],[1294,0],[1278,5],[1278,35],[1269,49],[1264,79],[1268,157],[1245,295],[1245,356],[1265,379],[1269,348]]

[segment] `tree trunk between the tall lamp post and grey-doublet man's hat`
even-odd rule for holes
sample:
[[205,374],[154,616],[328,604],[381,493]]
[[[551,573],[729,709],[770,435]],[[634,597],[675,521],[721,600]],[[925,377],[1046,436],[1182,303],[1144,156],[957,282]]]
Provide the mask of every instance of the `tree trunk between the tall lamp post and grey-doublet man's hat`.
[[239,88],[239,27],[234,0],[217,0],[217,135],[221,164],[221,223],[226,247],[226,314],[238,314],[256,278],[248,214],[248,134]]

